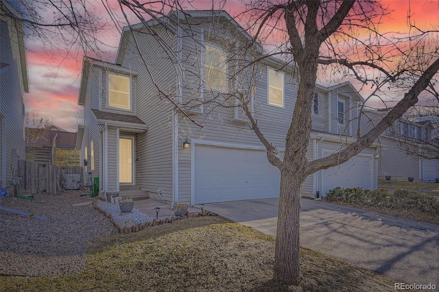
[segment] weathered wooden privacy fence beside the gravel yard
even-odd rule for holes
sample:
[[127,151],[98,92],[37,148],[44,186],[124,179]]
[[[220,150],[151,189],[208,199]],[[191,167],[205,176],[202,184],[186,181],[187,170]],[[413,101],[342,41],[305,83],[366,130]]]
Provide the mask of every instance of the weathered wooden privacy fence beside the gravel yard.
[[83,167],[57,167],[49,163],[18,160],[19,184],[17,194],[48,193],[56,195],[61,190],[64,174],[84,174]]

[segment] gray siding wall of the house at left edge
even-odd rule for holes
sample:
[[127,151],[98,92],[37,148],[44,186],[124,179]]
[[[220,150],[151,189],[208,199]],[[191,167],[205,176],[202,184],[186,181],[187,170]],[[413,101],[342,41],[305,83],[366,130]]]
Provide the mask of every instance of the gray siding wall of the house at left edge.
[[[23,106],[23,76],[21,74],[21,58],[19,55],[18,36],[13,21],[2,21],[0,19],[0,62],[8,64],[0,73],[0,115],[3,119],[5,136],[6,179],[0,186],[10,186],[12,174],[12,151],[16,149],[21,159],[25,158],[24,138],[24,106]],[[0,123],[1,124],[1,123]],[[0,134],[1,131],[0,131]],[[1,136],[0,136],[1,137]],[[0,142],[1,144],[1,142]],[[1,173],[1,167],[0,167]],[[10,191],[10,190],[8,190]]]

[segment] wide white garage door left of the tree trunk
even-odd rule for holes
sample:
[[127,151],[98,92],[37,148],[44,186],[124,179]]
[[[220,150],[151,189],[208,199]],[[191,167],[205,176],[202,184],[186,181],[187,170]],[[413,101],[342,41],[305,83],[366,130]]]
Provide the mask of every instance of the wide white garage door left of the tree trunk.
[[193,204],[278,197],[280,171],[265,153],[196,145]]

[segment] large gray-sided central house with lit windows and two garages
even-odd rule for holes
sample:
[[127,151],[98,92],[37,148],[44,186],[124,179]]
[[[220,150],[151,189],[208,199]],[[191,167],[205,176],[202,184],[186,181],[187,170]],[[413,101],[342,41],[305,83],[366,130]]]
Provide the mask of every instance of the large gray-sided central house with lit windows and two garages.
[[[176,50],[176,60],[142,25],[131,27],[141,57],[132,46],[130,27],[125,27],[115,64],[84,58],[78,99],[84,126],[78,127],[77,148],[86,171],[99,177],[102,193],[137,186],[172,203],[278,197],[280,172],[268,162],[241,109],[191,102],[195,96],[230,104],[225,91],[233,84],[233,66],[224,62],[230,58],[230,44],[237,51],[250,36],[224,11],[171,12],[169,18],[179,18],[187,29],[190,23],[198,40],[187,37],[182,27],[172,26],[176,34],[171,34],[151,22],[163,43]],[[149,72],[154,72],[154,82]],[[250,105],[282,156],[296,102],[294,74],[275,58],[260,64],[256,74]],[[167,88],[168,96],[158,88]],[[361,101],[348,82],[316,88],[309,160],[355,141]],[[303,195],[316,197],[335,186],[377,188],[375,151],[369,147],[340,167],[310,175]]]

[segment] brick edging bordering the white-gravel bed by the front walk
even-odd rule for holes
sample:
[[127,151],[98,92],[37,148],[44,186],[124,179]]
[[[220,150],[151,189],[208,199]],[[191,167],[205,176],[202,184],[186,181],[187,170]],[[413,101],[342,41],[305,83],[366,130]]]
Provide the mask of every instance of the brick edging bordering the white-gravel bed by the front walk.
[[100,213],[102,213],[103,215],[105,215],[108,219],[110,219],[110,222],[117,228],[117,230],[119,231],[119,234],[127,234],[127,233],[132,233],[132,232],[139,232],[140,230],[143,230],[147,227],[150,226],[159,226],[165,223],[172,223],[174,221],[178,221],[178,220],[182,220],[182,219],[187,219],[187,218],[191,218],[191,217],[204,217],[204,216],[216,216],[214,213],[209,212],[209,211],[202,211],[199,213],[191,213],[188,215],[183,215],[183,216],[171,216],[171,217],[167,217],[165,219],[152,219],[152,222],[145,222],[145,223],[139,223],[137,225],[133,225],[131,227],[120,227],[117,225],[116,221],[112,219],[112,215],[105,212],[104,210],[102,210],[101,208],[99,208],[99,205],[97,204],[98,200],[97,199],[93,199],[93,208],[95,208],[95,210],[98,210]]

